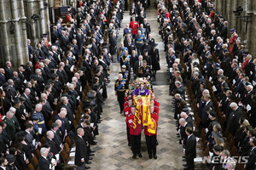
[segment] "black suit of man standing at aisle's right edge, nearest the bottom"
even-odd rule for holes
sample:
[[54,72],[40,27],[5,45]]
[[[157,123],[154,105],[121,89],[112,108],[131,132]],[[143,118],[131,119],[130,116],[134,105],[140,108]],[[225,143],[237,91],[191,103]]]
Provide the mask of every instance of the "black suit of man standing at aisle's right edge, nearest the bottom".
[[194,158],[196,157],[196,139],[195,135],[192,134],[189,139],[187,139],[187,144],[185,145],[185,159],[188,164],[188,168],[190,170],[195,169],[195,164],[194,164]]

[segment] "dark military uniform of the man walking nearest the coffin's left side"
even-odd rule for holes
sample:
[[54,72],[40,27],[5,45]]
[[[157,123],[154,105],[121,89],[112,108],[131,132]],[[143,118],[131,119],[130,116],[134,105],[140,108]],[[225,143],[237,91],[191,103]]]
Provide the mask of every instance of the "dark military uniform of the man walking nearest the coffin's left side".
[[120,81],[119,79],[117,79],[114,82],[114,92],[118,96],[120,113],[124,111],[125,92],[128,92],[128,85],[129,85],[129,82],[126,82],[123,80]]

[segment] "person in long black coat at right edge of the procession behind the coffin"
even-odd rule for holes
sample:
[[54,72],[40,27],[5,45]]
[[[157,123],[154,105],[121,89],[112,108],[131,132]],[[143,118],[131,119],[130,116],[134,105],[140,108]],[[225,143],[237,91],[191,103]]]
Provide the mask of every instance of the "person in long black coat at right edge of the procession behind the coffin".
[[150,50],[150,56],[152,61],[152,77],[155,79],[156,71],[160,71],[160,56],[159,56],[159,50],[156,48],[158,44],[154,43],[152,45],[152,48]]

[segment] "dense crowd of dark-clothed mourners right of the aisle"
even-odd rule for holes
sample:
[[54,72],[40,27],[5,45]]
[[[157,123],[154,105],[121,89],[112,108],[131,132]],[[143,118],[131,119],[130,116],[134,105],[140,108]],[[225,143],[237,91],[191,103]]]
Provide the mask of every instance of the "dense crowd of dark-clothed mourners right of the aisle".
[[[256,59],[234,28],[227,39],[228,21],[210,1],[159,1],[157,8],[180,144],[186,148],[186,129],[194,127],[208,167],[255,169]],[[194,161],[184,166],[195,168]]]

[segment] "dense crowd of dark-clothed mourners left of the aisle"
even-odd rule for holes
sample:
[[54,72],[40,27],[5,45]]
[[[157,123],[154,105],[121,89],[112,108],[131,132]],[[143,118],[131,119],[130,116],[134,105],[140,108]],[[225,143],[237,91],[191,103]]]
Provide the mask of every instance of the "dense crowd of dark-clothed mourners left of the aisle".
[[[123,19],[123,1],[81,1],[68,8],[68,22],[51,27],[34,47],[27,40],[30,61],[14,70],[0,68],[0,167],[63,169],[88,165],[93,159],[102,105],[108,98],[110,35]],[[106,29],[106,30],[105,30]],[[69,165],[77,128],[84,139],[84,157]],[[77,150],[75,150],[77,152]],[[76,153],[77,157],[77,153]],[[85,166],[86,165],[86,166]]]

